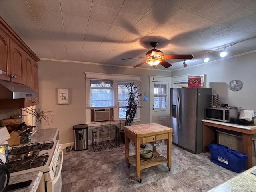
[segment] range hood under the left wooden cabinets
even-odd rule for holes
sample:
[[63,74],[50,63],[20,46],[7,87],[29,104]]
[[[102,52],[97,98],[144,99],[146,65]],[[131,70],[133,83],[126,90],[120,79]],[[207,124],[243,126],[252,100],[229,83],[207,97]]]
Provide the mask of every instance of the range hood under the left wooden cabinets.
[[0,99],[23,99],[38,97],[29,86],[0,80]]

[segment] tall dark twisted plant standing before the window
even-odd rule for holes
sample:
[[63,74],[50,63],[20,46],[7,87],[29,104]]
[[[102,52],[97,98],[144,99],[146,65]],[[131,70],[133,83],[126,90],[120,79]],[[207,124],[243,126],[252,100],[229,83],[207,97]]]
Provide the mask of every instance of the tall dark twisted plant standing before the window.
[[[141,96],[139,93],[138,85],[135,86],[134,82],[130,84],[125,84],[125,88],[128,89],[128,98],[126,99],[127,101],[127,107],[126,107],[126,114],[124,117],[125,120],[125,126],[130,126],[134,124],[133,120],[136,117],[136,111],[137,111],[137,106],[139,104],[138,98]],[[124,143],[124,130],[121,130],[121,139],[122,142]]]

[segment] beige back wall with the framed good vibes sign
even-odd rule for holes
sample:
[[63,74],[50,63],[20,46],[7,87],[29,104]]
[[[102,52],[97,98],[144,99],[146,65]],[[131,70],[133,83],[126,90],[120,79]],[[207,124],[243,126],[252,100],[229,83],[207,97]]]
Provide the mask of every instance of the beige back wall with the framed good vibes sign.
[[[100,66],[84,63],[57,62],[42,60],[39,62],[39,106],[45,110],[53,111],[54,125],[60,130],[60,144],[73,142],[72,127],[76,124],[86,123],[85,74],[96,72],[107,74],[126,74],[141,76],[141,93],[149,97],[149,76],[153,70],[139,68]],[[170,71],[154,70],[154,76],[170,76]],[[56,88],[69,88],[70,104],[56,104]],[[150,104],[141,101],[141,121],[138,124],[150,122]],[[135,123],[135,124],[136,124]],[[120,125],[120,124],[119,124]],[[120,127],[120,126],[118,126]],[[50,128],[48,124],[41,124],[41,128]],[[89,138],[90,138],[89,127]]]

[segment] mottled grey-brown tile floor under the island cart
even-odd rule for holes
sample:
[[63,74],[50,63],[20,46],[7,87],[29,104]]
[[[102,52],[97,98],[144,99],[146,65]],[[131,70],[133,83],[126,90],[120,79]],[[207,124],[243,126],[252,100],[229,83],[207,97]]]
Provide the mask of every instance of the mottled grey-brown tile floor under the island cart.
[[[130,142],[130,155],[135,148]],[[152,146],[148,146],[152,150]],[[166,156],[164,142],[157,151]],[[92,146],[83,151],[64,151],[62,192],[204,192],[237,173],[209,160],[209,153],[192,154],[172,145],[172,169],[166,163],[141,171],[142,183],[133,165],[124,162],[124,144],[94,152]]]

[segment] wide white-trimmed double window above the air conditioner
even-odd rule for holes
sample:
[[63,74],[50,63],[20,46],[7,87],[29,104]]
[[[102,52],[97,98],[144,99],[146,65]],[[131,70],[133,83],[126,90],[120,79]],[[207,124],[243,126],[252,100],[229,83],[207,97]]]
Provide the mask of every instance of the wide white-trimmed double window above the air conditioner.
[[[115,76],[116,79],[114,79]],[[110,79],[107,79],[107,77],[110,77]],[[128,98],[128,89],[125,84],[133,82],[135,86],[139,86],[140,90],[140,78],[138,76],[111,76],[111,74],[94,73],[90,75],[89,73],[86,77],[86,108],[88,110],[112,108],[114,120],[124,118],[127,106],[126,99]],[[140,110],[137,110],[137,112],[137,117],[140,117]]]

